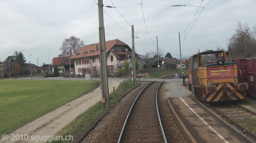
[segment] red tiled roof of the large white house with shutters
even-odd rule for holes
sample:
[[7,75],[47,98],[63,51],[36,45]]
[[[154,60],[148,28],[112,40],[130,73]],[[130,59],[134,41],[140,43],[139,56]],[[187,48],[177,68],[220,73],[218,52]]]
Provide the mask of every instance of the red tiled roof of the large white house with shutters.
[[[124,45],[124,46],[129,47],[127,44],[125,44],[124,42],[122,42],[118,39],[106,41],[105,42],[106,53],[108,53],[109,50],[112,49],[112,47],[114,45]],[[91,51],[93,51],[93,52],[91,53]],[[100,44],[97,43],[97,44],[85,45],[80,50],[78,50],[74,55],[72,55],[72,57],[70,59],[84,58],[84,57],[96,57],[99,55],[100,55]]]

